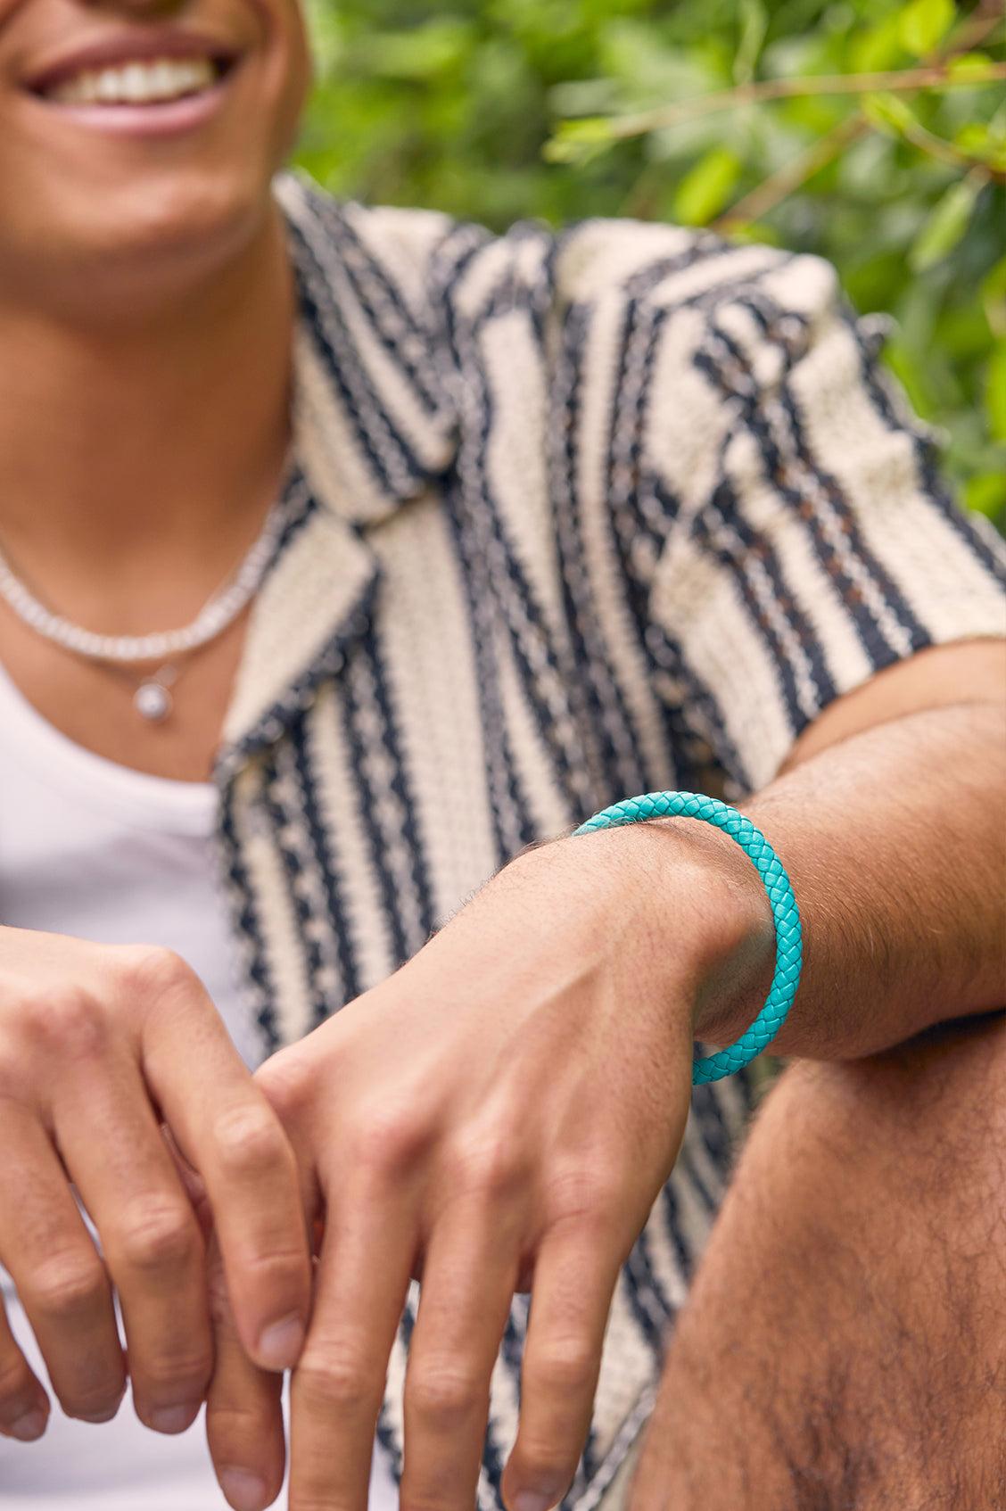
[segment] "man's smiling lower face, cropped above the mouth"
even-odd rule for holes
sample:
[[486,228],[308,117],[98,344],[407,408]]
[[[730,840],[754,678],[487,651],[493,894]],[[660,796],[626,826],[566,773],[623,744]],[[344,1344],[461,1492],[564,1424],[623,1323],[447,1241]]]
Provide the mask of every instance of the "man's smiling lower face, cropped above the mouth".
[[0,0],[0,302],[233,255],[307,77],[296,0]]

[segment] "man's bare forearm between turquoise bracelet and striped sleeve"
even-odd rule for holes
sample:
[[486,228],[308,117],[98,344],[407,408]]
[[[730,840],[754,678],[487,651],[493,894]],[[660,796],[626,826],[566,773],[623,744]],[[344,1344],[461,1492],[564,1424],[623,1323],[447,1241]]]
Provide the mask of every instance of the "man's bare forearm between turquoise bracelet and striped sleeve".
[[[785,772],[745,813],[785,866],[804,976],[775,1047],[858,1058],[932,1023],[1006,1006],[1006,709],[940,707]],[[757,988],[711,996],[696,1034],[728,1043]]]

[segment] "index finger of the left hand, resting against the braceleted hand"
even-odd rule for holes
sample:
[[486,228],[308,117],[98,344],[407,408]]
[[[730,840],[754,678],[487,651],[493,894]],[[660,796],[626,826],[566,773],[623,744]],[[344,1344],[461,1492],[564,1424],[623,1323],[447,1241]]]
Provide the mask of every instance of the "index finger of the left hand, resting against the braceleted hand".
[[143,1071],[184,1157],[205,1182],[239,1337],[261,1367],[292,1367],[311,1302],[293,1150],[192,972],[153,952],[139,966],[134,990],[154,1003],[143,1029]]

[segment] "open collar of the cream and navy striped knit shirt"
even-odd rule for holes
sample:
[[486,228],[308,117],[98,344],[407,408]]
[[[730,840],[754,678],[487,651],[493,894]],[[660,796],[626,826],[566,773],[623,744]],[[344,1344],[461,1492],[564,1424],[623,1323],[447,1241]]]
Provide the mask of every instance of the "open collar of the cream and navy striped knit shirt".
[[273,745],[317,684],[338,675],[378,591],[367,527],[424,493],[456,452],[443,338],[366,234],[369,212],[289,175],[276,196],[299,301],[289,523],[248,626],[219,781]]

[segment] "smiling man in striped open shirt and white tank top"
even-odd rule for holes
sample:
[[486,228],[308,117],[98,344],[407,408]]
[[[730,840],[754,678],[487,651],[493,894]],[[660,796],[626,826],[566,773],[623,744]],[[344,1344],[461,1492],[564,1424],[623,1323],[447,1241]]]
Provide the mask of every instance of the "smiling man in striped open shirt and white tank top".
[[[236,1511],[279,1488],[295,1361],[293,1511],[366,1503],[375,1428],[378,1503],[400,1472],[406,1505],[544,1511],[576,1473],[588,1506],[742,1121],[725,1085],[686,1133],[692,1041],[754,1018],[773,935],[713,831],[526,846],[731,780],[804,914],[782,1053],[994,1011],[1001,553],[826,269],[276,199],[304,80],[293,0],[0,0],[0,1259],[69,1416],[122,1395],[112,1287],[139,1417],[208,1387]],[[248,1059],[285,1046],[254,1083],[180,956]],[[755,1135],[713,1278],[816,1098]],[[708,1290],[683,1342],[725,1348]],[[38,1437],[6,1334],[0,1383]],[[650,1493],[708,1401],[662,1405]],[[45,1454],[5,1484],[80,1505]]]

